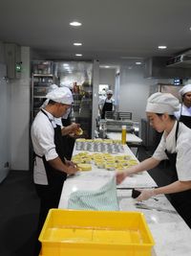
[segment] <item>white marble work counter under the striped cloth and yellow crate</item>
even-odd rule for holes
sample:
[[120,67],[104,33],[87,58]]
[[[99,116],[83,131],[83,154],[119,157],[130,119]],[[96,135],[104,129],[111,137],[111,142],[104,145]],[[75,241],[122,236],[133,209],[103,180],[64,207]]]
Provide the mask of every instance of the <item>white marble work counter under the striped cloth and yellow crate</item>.
[[[124,145],[124,152],[136,158],[133,152]],[[74,154],[79,151],[74,150]],[[64,183],[59,208],[69,208],[68,199],[75,191],[93,191],[103,186],[114,171],[97,169],[79,172],[72,175]],[[127,177],[117,186],[117,200],[120,211],[138,211],[145,215],[146,221],[156,242],[152,256],[187,256],[191,251],[190,228],[163,195],[137,202],[131,197],[133,187],[150,188],[157,186],[145,171],[139,175]]]

